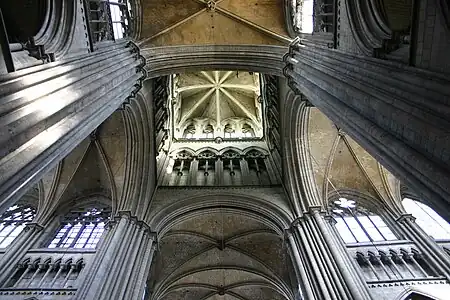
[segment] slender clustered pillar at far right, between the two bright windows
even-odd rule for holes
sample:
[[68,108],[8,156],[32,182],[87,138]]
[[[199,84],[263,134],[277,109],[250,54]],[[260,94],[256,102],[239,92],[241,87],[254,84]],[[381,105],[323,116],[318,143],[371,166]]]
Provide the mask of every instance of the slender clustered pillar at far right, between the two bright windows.
[[412,215],[401,215],[396,222],[406,237],[414,242],[420,252],[427,257],[427,262],[434,268],[436,274],[445,276],[450,280],[450,256],[445,253],[444,249],[417,225]]

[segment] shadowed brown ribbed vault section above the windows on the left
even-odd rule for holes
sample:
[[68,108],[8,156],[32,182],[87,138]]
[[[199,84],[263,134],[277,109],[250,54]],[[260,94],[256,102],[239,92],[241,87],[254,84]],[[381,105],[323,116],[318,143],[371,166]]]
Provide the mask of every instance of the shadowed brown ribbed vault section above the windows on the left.
[[124,130],[122,112],[117,111],[44,175],[36,222],[48,220],[57,207],[67,208],[86,198],[107,198],[113,207],[117,205],[125,176]]

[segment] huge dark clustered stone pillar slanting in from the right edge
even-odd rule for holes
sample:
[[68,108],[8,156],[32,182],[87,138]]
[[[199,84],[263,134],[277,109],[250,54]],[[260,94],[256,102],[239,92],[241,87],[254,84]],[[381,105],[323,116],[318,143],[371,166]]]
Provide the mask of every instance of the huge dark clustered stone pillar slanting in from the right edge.
[[448,76],[300,40],[285,62],[294,90],[450,221]]

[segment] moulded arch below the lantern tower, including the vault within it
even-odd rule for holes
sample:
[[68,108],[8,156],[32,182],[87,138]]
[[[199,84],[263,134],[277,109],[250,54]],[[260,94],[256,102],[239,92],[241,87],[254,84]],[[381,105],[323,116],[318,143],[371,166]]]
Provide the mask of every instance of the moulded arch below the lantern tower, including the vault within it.
[[177,199],[156,212],[150,224],[160,251],[151,299],[253,299],[249,293],[256,291],[265,295],[261,299],[293,300],[282,250],[291,217],[261,201],[219,192]]

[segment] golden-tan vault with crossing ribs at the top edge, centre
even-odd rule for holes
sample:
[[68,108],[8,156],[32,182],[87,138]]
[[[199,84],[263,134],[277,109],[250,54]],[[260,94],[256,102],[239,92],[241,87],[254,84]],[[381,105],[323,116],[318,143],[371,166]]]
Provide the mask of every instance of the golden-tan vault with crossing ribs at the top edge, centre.
[[287,45],[284,0],[142,0],[141,47]]

